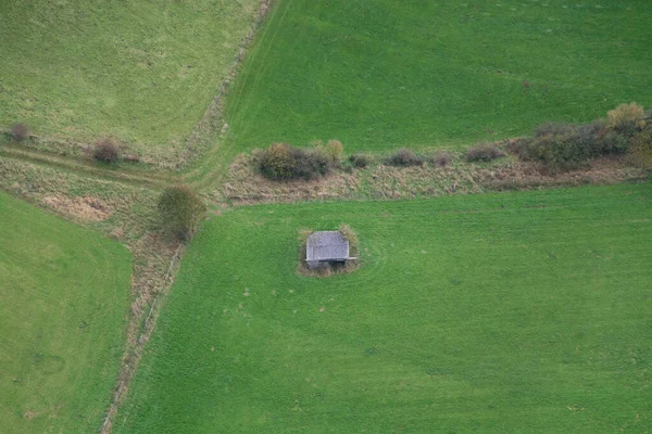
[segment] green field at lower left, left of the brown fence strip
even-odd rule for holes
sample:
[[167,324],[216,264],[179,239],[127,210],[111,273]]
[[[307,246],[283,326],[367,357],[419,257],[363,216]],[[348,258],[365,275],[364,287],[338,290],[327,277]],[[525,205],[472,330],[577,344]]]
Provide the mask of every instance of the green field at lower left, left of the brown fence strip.
[[130,255],[0,193],[0,432],[95,432],[120,368]]

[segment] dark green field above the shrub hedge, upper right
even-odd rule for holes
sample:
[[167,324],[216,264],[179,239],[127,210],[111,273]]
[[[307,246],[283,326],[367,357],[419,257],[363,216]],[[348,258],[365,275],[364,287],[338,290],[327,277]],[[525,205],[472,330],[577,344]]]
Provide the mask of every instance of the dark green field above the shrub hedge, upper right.
[[229,137],[459,146],[650,105],[651,20],[648,0],[279,0],[231,92]]

